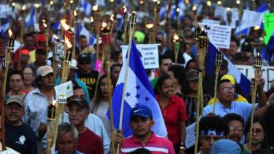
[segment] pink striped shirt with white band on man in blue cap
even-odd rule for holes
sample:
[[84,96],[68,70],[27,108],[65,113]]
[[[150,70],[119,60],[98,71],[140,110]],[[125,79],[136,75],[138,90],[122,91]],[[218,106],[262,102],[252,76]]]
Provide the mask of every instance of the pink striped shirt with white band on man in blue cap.
[[149,138],[146,144],[140,142],[136,136],[129,136],[121,146],[121,153],[127,154],[140,148],[145,148],[151,151],[152,154],[175,154],[173,144],[166,138],[156,136],[154,133],[152,133],[151,138]]

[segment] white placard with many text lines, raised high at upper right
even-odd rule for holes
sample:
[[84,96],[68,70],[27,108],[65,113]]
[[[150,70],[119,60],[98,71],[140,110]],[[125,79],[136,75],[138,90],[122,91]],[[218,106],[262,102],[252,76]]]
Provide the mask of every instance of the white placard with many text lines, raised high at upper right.
[[206,29],[208,38],[216,47],[229,49],[232,27],[204,23],[199,23],[199,25],[201,25],[201,27],[205,27],[206,25],[209,27],[209,29]]

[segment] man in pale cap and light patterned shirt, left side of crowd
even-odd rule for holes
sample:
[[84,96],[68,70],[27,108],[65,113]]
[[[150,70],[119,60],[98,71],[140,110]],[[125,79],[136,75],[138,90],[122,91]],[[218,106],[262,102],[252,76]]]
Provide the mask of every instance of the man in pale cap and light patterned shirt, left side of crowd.
[[23,121],[32,127],[36,132],[36,136],[42,137],[47,131],[47,128],[40,123],[40,119],[42,119],[42,115],[53,99],[55,84],[51,66],[40,66],[36,71],[36,75],[38,88],[29,92],[25,98],[26,107]]

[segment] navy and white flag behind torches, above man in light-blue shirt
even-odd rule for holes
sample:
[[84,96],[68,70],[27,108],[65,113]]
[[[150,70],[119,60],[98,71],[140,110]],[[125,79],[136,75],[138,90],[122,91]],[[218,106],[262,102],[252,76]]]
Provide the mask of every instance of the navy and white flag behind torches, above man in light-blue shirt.
[[[214,71],[214,65],[216,60],[216,54],[218,52],[218,49],[212,44],[209,43],[208,46],[208,53],[206,58],[206,73],[210,77],[214,77],[215,71]],[[242,91],[242,94],[244,97],[247,97],[250,93],[250,81],[243,75],[238,68],[225,56],[223,55],[223,59],[227,60],[228,65],[228,73],[229,75],[233,75],[236,79],[237,84],[240,86],[240,89]]]

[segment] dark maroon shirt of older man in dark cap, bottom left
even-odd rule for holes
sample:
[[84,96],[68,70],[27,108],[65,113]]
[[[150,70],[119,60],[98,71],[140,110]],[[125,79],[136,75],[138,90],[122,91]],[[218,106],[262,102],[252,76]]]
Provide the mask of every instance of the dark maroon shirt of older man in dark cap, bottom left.
[[103,144],[99,136],[86,129],[83,133],[79,133],[77,151],[85,154],[103,154]]

